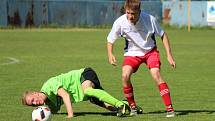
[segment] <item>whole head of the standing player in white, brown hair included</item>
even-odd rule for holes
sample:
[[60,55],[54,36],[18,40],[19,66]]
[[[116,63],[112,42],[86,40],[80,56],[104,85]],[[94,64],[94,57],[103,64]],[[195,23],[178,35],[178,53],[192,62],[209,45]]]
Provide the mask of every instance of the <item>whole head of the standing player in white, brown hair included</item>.
[[136,23],[140,16],[141,1],[140,0],[126,0],[124,10],[127,15],[128,21]]

